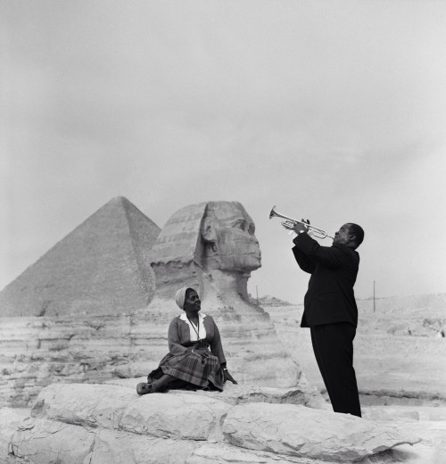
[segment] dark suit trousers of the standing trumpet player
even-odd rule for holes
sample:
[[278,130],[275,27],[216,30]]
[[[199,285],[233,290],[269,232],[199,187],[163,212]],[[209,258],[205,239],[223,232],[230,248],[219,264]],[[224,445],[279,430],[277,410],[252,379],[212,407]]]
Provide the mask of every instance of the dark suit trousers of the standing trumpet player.
[[361,417],[358,385],[353,369],[356,327],[337,322],[310,327],[311,343],[326,392],[335,412]]

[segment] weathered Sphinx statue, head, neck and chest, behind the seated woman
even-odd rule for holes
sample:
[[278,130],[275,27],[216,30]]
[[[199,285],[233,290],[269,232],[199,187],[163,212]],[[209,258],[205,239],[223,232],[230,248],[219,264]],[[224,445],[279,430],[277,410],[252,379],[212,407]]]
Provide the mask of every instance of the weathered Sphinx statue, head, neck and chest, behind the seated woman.
[[176,211],[150,256],[156,290],[147,311],[178,315],[176,290],[191,286],[202,312],[216,320],[237,381],[289,387],[304,381],[267,312],[249,299],[247,283],[261,266],[252,218],[238,202],[196,203]]

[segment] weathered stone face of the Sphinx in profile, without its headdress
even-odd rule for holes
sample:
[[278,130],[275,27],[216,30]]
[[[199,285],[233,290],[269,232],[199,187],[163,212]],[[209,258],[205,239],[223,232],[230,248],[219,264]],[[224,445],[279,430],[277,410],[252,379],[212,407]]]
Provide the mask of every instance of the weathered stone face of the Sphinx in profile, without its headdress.
[[259,269],[261,253],[255,226],[237,202],[210,202],[202,221],[205,269],[249,272]]

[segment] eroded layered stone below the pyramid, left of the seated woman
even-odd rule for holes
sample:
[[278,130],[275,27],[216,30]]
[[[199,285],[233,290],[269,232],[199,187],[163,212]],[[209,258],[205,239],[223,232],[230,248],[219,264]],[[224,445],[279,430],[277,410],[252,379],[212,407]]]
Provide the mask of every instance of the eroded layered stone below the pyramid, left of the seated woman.
[[1,318],[0,407],[29,406],[51,383],[146,375],[167,352],[170,319],[169,311]]

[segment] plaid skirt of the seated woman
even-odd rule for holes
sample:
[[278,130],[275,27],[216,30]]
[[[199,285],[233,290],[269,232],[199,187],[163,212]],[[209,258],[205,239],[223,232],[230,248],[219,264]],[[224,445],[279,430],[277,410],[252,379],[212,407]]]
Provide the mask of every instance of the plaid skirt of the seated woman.
[[177,377],[183,381],[180,384],[183,386],[192,384],[195,388],[215,387],[220,392],[223,391],[223,369],[218,358],[213,355],[202,359],[194,352],[184,352],[176,356],[168,353],[160,361],[158,369],[153,370],[148,378],[159,378],[162,374]]

